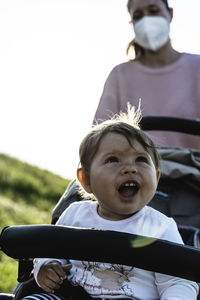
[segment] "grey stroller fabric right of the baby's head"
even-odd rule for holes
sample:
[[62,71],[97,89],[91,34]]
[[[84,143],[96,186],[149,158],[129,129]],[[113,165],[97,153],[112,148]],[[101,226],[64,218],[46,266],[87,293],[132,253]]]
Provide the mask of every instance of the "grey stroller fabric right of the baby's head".
[[200,151],[160,148],[161,179],[150,206],[178,225],[200,228]]

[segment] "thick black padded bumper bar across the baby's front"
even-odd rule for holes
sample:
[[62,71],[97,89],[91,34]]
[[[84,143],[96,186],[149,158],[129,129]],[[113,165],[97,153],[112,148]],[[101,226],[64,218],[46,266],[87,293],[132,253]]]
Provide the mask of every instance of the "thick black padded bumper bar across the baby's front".
[[0,235],[0,249],[14,259],[109,262],[200,281],[199,249],[117,231],[59,225],[11,226]]

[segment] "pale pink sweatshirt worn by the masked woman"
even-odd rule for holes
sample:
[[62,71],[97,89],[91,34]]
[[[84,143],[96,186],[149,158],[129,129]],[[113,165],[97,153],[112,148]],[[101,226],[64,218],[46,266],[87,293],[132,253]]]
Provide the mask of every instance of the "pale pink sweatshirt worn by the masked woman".
[[[127,102],[142,115],[200,118],[200,56],[183,53],[173,64],[149,68],[138,61],[116,66],[109,74],[95,120],[126,111]],[[200,137],[176,132],[150,132],[159,145],[200,149]]]

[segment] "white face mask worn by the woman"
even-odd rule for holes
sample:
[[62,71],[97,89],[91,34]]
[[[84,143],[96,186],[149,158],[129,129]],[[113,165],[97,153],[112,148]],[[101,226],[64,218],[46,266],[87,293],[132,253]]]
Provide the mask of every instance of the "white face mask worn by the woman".
[[134,31],[140,46],[156,51],[169,39],[169,21],[160,16],[145,16],[135,23]]

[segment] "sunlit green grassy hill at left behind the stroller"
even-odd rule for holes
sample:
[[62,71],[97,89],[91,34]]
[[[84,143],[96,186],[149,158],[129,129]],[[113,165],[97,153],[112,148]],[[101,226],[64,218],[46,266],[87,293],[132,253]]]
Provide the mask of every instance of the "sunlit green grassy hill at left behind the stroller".
[[[8,225],[49,224],[69,180],[0,154],[0,230]],[[17,262],[0,252],[0,293],[17,283]]]

